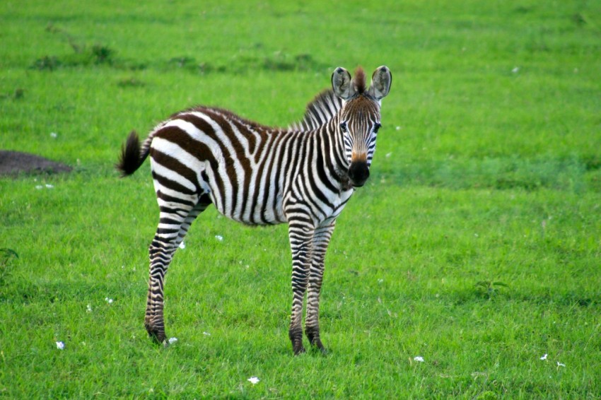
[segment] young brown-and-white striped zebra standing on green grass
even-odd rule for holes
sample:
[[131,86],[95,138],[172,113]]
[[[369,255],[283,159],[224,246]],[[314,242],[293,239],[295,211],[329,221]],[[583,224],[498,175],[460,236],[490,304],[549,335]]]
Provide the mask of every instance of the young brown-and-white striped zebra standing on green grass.
[[266,127],[216,107],[194,107],[158,124],[140,143],[132,131],[116,165],[132,175],[150,155],[159,223],[148,249],[150,266],[144,325],[165,343],[163,283],[175,250],[210,204],[247,225],[288,223],[292,252],[293,353],[305,334],[325,352],[318,322],[324,258],[336,218],[369,177],[380,129],[381,100],[392,73],[375,69],[369,88],[361,67],[342,67],[332,88],[317,95],[301,122]]

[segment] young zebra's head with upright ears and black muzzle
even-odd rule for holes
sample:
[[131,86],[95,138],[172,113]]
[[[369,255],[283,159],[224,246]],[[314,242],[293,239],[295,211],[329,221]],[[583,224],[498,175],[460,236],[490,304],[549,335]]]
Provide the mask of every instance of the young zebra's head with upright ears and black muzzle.
[[375,139],[381,126],[380,104],[391,84],[392,73],[387,66],[373,72],[369,88],[361,68],[357,69],[354,79],[342,67],[332,73],[332,89],[343,103],[336,117],[336,129],[343,138],[347,174],[354,187],[363,186],[369,177]]

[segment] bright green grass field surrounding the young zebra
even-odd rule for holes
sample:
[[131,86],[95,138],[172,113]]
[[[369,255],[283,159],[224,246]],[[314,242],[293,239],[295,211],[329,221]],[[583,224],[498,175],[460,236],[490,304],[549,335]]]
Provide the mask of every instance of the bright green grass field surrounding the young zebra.
[[[0,177],[0,397],[601,397],[601,1],[202,3],[0,3],[0,149],[74,167]],[[129,131],[286,125],[360,64],[394,79],[326,258],[329,353],[292,355],[286,226],[212,208],[151,343]]]

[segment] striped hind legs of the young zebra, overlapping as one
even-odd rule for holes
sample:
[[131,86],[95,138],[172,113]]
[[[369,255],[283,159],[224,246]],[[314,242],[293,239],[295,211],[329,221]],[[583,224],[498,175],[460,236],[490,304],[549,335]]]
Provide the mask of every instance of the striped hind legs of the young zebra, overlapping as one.
[[163,319],[163,282],[165,273],[173,258],[173,253],[197,216],[211,204],[208,196],[202,196],[200,201],[190,209],[190,206],[173,204],[161,206],[161,222],[158,224],[156,235],[148,250],[150,256],[150,278],[148,279],[148,300],[146,302],[146,317],[144,326],[148,335],[158,343],[165,341],[165,320]]

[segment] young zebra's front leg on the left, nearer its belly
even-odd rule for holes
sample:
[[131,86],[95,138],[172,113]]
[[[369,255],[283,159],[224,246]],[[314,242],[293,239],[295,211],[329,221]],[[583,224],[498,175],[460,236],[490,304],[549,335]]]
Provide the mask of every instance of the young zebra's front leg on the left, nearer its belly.
[[303,300],[309,281],[311,244],[315,230],[301,221],[290,221],[288,235],[292,250],[292,314],[288,335],[295,355],[305,352],[303,347]]

